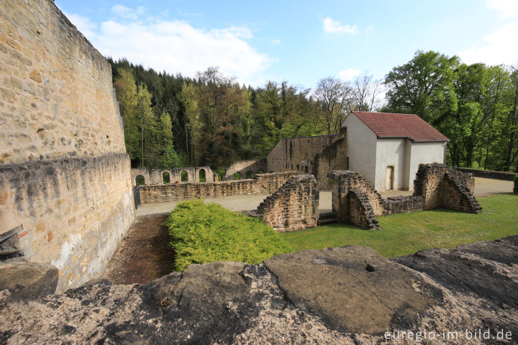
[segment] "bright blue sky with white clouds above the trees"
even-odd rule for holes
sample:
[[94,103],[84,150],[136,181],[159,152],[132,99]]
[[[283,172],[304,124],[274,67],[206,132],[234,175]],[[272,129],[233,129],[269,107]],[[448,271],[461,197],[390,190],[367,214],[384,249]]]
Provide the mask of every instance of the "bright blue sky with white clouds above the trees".
[[518,0],[55,3],[104,55],[190,77],[219,66],[253,86],[382,79],[418,49],[518,63]]

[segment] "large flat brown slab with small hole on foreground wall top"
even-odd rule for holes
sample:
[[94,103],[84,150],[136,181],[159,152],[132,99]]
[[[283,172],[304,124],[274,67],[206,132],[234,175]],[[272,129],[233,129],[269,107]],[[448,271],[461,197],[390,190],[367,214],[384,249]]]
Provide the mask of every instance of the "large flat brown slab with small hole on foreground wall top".
[[406,328],[441,296],[438,289],[368,247],[277,255],[265,260],[287,298],[332,328],[382,334]]

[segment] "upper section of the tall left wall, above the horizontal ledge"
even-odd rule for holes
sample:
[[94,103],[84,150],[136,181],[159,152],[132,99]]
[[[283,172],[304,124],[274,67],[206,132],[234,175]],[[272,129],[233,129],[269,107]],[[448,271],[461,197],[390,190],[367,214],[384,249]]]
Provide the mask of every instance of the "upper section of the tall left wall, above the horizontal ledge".
[[104,56],[51,0],[0,8],[0,164],[125,152]]

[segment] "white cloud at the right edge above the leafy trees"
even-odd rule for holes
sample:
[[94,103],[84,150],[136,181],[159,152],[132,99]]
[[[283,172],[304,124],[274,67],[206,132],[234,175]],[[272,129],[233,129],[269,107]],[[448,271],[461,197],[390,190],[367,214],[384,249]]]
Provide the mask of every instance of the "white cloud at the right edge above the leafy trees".
[[484,62],[489,65],[514,64],[518,60],[518,21],[502,26],[484,37],[485,44],[470,47],[458,53],[463,62]]

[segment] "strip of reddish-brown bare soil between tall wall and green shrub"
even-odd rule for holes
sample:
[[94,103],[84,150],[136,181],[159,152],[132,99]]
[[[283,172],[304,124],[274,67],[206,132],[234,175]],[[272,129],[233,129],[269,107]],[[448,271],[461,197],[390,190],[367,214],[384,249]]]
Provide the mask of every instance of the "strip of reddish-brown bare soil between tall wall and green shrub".
[[104,272],[113,284],[145,284],[169,274],[174,252],[164,225],[167,213],[142,215],[135,219]]

